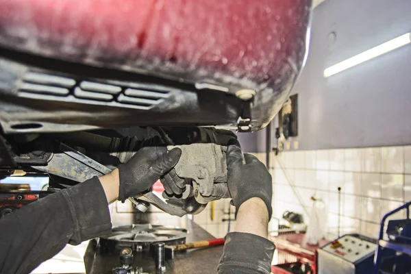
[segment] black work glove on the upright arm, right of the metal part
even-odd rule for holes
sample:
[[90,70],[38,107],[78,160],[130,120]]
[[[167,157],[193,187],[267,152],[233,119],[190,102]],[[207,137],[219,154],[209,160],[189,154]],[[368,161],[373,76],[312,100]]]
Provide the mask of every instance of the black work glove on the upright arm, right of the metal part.
[[[227,148],[227,178],[228,190],[237,210],[241,204],[253,197],[264,201],[271,219],[271,197],[273,182],[269,171],[255,156],[244,153],[242,157],[240,144],[237,140],[229,142]],[[243,162],[245,160],[245,163]]]

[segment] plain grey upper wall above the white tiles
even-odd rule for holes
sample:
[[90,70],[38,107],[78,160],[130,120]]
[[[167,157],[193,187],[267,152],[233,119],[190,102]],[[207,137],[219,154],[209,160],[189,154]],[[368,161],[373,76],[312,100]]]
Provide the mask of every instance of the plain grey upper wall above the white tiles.
[[300,149],[411,144],[411,45],[323,77],[328,66],[407,32],[410,0],[327,0],[314,10],[308,62],[293,90]]

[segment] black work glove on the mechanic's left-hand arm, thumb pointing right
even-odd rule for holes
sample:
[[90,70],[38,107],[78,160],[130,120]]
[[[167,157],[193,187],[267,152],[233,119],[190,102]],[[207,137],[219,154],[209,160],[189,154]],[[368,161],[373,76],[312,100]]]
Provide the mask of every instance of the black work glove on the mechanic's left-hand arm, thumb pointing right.
[[166,147],[143,147],[125,164],[119,165],[119,201],[148,190],[177,164],[182,150]]

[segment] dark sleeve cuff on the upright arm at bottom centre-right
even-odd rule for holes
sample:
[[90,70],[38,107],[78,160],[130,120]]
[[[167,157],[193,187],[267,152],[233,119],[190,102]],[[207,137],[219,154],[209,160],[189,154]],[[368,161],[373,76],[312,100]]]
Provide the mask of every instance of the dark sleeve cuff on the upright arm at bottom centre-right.
[[218,273],[270,274],[275,245],[260,236],[230,232],[225,236]]

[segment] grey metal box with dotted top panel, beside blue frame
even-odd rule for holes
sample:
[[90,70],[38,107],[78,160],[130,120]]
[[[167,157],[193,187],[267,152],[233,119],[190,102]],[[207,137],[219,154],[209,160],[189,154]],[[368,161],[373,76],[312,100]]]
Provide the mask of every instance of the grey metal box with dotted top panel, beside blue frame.
[[360,234],[347,234],[329,242],[317,249],[317,273],[373,273],[376,242]]

